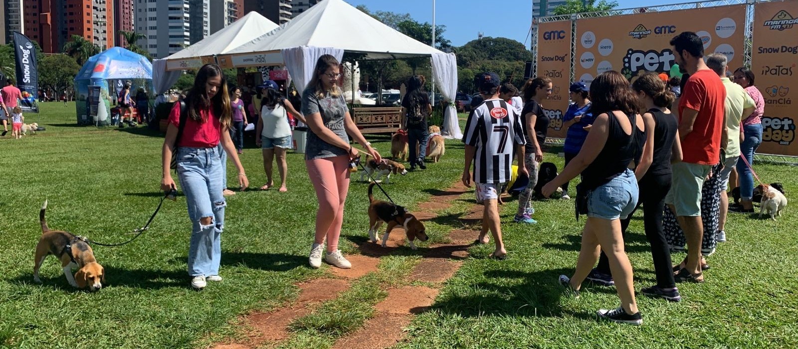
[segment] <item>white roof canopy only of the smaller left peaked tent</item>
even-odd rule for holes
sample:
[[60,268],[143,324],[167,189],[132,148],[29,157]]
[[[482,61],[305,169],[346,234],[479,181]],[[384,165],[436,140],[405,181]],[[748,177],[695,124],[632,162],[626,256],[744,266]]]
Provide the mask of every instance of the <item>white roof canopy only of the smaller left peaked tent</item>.
[[[263,33],[271,32],[278,26],[263,15],[252,11],[213,35],[166,57],[166,69],[197,69],[204,63],[213,62],[215,56],[227,53]],[[203,61],[203,57],[207,57],[206,60]]]

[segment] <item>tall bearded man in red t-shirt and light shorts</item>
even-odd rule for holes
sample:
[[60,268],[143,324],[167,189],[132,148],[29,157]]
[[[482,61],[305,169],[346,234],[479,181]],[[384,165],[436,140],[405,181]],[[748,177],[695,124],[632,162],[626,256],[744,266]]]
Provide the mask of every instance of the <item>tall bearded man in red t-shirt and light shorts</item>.
[[676,63],[690,74],[679,99],[681,163],[674,163],[672,186],[665,202],[674,211],[687,240],[687,261],[677,281],[702,282],[701,187],[709,171],[720,161],[725,147],[726,89],[717,73],[704,63],[704,44],[693,32],[683,32],[670,41]]

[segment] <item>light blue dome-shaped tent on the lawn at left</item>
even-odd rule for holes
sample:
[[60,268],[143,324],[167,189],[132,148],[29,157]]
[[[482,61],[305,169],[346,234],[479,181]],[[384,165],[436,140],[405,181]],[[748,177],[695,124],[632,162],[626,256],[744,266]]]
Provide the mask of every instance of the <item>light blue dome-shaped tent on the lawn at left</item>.
[[152,63],[138,54],[113,47],[89,58],[75,76],[77,124],[107,126],[125,81],[132,84],[131,98],[144,88],[152,100]]

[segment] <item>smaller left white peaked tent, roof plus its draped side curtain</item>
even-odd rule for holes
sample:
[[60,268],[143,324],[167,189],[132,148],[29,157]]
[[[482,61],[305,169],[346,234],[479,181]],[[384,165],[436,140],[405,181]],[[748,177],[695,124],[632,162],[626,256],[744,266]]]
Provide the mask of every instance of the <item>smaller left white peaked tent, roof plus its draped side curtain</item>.
[[206,63],[215,63],[216,56],[227,53],[278,27],[279,25],[275,22],[252,11],[213,35],[197,41],[194,45],[181,49],[164,59],[152,61],[153,75],[157,76],[153,77],[156,92],[160,94],[172,87],[172,84],[180,77],[181,70],[199,69]]

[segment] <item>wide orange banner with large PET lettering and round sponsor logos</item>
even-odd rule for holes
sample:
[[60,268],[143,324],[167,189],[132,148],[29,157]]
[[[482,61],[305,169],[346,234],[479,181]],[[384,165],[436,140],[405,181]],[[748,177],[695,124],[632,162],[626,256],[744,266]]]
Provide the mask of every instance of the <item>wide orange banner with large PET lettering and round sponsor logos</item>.
[[575,79],[590,84],[609,70],[630,81],[646,72],[670,73],[675,57],[670,39],[691,31],[704,53],[724,53],[729,67],[743,65],[745,5],[647,12],[576,21]]

